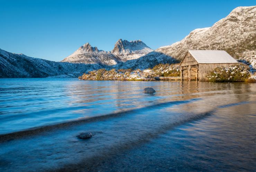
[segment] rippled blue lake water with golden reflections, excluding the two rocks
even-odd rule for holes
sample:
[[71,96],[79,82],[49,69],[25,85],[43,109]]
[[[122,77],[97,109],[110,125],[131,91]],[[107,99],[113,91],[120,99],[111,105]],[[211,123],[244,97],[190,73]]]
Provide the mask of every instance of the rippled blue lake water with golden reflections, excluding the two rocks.
[[0,171],[74,170],[256,171],[256,84],[0,79]]

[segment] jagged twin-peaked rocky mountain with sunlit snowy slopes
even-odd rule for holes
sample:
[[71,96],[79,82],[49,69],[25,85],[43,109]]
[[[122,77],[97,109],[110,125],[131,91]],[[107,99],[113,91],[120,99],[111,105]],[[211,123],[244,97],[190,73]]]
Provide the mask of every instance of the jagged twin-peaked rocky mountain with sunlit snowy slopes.
[[119,39],[112,51],[98,50],[89,43],[82,45],[62,62],[115,65],[127,60],[137,59],[153,51],[141,40],[127,41]]

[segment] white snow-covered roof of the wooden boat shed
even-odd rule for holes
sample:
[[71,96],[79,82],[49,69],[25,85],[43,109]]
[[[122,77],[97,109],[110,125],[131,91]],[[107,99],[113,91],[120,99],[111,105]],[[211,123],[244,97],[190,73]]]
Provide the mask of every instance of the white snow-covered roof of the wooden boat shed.
[[224,50],[189,50],[198,63],[238,63]]

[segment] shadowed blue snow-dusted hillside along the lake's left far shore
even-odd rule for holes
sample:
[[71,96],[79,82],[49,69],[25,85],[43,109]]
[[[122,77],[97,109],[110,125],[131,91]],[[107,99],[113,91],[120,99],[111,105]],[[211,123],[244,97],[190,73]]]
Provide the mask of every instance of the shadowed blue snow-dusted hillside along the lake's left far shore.
[[0,78],[43,78],[55,75],[78,77],[86,71],[99,68],[102,66],[98,64],[54,62],[0,49]]

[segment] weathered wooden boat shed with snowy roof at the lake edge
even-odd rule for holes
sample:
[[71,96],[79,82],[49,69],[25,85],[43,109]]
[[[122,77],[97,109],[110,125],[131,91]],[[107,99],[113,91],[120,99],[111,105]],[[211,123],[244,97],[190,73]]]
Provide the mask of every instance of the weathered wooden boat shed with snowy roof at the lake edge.
[[238,63],[223,50],[189,50],[182,59],[181,80],[207,81],[207,74],[217,67]]

